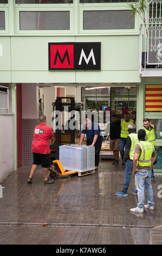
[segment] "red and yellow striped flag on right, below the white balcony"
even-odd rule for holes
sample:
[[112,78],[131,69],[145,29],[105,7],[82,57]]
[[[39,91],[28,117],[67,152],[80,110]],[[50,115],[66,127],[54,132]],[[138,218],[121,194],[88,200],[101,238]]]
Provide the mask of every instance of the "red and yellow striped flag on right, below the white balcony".
[[162,84],[146,85],[145,111],[162,111]]

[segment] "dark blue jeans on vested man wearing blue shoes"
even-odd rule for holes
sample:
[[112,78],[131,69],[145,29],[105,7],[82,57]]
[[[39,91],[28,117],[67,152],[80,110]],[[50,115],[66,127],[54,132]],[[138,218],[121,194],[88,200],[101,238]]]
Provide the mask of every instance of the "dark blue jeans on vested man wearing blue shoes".
[[122,192],[124,193],[127,193],[132,172],[133,172],[133,160],[128,159],[125,164],[124,186],[122,188]]

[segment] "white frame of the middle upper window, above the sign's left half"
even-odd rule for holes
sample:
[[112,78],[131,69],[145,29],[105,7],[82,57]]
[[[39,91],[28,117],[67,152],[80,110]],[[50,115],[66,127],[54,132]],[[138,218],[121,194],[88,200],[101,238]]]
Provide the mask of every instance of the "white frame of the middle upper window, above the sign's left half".
[[[18,5],[18,7],[17,7]],[[21,7],[20,7],[21,5]],[[28,7],[22,7],[22,5],[28,5]],[[34,5],[34,6],[33,6]],[[46,5],[46,6],[45,6]],[[61,5],[61,7],[58,7],[58,5]],[[15,8],[15,15],[16,15],[16,28],[15,32],[16,34],[73,34],[74,33],[74,26],[73,26],[73,20],[74,20],[74,8],[73,7],[62,7],[62,4],[57,4],[57,7],[54,7],[54,4],[43,4],[43,7],[38,7],[36,4],[16,4]],[[21,30],[20,29],[20,11],[69,11],[70,14],[70,29],[69,30]]]

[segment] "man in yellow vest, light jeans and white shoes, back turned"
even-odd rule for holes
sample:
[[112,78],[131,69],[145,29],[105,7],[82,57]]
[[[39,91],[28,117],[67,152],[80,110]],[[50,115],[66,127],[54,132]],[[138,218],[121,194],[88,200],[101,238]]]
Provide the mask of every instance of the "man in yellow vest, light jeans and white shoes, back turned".
[[[154,145],[145,140],[144,129],[138,131],[139,142],[135,145],[133,157],[133,173],[135,174],[135,184],[138,190],[138,204],[131,212],[144,212],[145,209],[154,210],[153,191],[151,185],[151,167],[157,154]],[[147,192],[147,204],[145,202],[145,191]]]

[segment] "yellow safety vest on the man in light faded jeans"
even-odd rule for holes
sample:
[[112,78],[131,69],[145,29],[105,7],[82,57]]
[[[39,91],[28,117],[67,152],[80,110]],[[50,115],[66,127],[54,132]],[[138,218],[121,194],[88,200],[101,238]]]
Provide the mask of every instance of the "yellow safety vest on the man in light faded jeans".
[[139,166],[150,166],[154,146],[148,141],[140,141],[138,144],[140,145],[141,148],[141,154],[138,160]]

